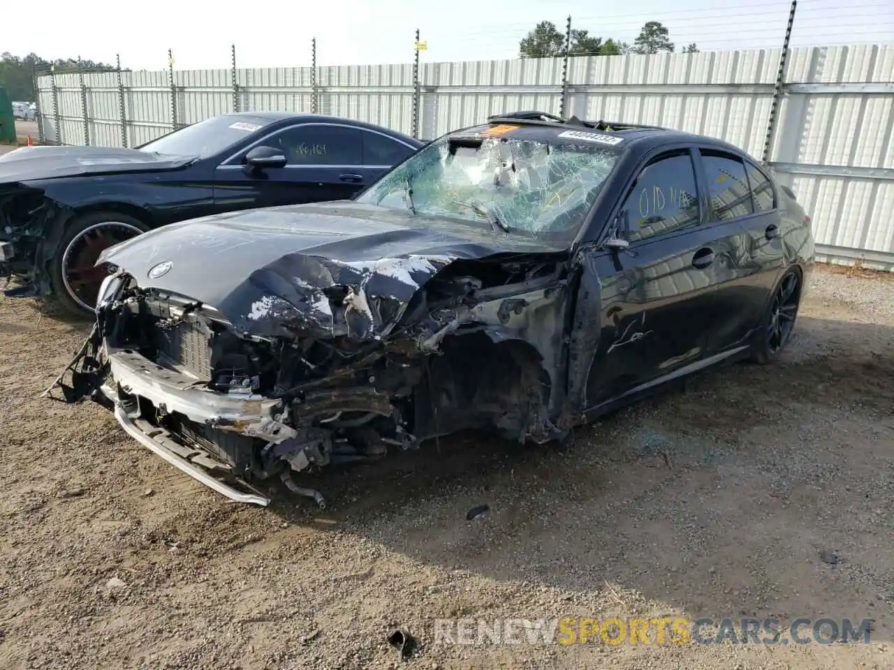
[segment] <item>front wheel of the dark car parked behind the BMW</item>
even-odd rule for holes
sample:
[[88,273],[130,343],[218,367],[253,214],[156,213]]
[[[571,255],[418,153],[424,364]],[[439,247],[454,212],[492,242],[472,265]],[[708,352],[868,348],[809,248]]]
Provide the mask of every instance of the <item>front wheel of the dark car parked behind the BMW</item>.
[[69,222],[50,260],[55,303],[67,314],[92,318],[99,286],[107,274],[114,272],[108,264],[94,267],[99,254],[147,230],[145,223],[116,212],[91,212]]

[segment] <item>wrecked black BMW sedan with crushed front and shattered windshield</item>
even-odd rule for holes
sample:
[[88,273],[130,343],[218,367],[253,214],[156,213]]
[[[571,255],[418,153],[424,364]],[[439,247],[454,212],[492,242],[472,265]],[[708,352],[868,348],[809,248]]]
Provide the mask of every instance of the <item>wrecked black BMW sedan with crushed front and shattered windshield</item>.
[[230,498],[266,505],[246,487],[275,476],[322,504],[321,466],[464,429],[561,440],[662,382],[772,361],[813,256],[794,194],[736,147],[519,113],[353,201],[108,249],[62,386]]

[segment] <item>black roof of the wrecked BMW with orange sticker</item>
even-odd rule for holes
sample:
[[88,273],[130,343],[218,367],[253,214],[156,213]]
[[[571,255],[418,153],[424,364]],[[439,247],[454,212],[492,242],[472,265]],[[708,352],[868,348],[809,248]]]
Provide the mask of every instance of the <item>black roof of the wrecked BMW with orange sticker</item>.
[[697,144],[747,155],[741,148],[722,139],[683,130],[620,121],[585,121],[576,117],[562,119],[533,111],[497,114],[489,117],[485,123],[449,133],[457,136],[468,134],[491,137],[511,134],[513,138],[542,141],[579,138],[605,147],[628,148],[636,145],[640,150],[665,144]]

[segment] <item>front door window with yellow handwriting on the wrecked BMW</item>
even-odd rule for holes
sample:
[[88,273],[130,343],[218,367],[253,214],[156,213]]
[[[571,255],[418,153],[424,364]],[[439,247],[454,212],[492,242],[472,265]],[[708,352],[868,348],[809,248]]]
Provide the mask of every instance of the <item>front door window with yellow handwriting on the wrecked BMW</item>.
[[689,153],[661,155],[646,165],[621,214],[631,242],[697,225],[696,172]]

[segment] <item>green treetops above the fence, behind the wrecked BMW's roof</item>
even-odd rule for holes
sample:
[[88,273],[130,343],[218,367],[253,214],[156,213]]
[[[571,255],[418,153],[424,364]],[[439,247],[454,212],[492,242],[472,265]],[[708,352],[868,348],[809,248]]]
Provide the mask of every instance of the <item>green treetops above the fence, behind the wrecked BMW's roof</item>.
[[[569,55],[623,55],[674,53],[675,45],[671,35],[661,21],[646,21],[633,44],[616,39],[591,36],[589,30],[571,30]],[[695,43],[684,46],[682,53],[695,54]],[[565,35],[552,21],[540,21],[527,37],[519,42],[522,58],[549,58],[565,54]]]

